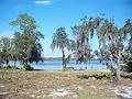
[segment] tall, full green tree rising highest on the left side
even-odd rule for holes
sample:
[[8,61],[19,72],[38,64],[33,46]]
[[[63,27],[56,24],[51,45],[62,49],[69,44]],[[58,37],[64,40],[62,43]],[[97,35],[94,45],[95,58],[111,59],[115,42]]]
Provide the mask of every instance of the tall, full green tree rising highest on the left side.
[[30,63],[42,61],[42,45],[40,43],[44,35],[37,31],[36,21],[33,16],[24,13],[19,14],[18,19],[10,23],[18,28],[19,32],[14,33],[14,50],[16,50],[15,58],[18,58],[25,67],[30,69]]

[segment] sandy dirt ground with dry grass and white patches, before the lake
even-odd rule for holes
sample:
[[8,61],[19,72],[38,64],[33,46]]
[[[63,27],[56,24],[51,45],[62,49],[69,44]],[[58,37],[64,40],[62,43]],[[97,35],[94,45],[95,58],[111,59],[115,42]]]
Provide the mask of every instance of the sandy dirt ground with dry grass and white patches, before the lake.
[[0,70],[0,99],[120,99],[111,89],[132,84],[128,78],[117,84],[106,78],[78,77],[95,74],[110,73]]

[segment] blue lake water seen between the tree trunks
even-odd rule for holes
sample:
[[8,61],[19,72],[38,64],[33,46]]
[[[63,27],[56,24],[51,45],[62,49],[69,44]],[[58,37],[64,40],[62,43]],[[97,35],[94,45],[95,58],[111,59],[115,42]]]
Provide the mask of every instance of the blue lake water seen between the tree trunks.
[[[35,69],[46,69],[46,70],[57,70],[62,69],[62,61],[45,61],[44,63],[32,64],[32,67]],[[67,67],[74,67],[75,69],[85,68],[84,64],[76,64],[75,61],[72,61]],[[105,69],[106,65],[99,61],[90,61],[87,64],[88,69]]]

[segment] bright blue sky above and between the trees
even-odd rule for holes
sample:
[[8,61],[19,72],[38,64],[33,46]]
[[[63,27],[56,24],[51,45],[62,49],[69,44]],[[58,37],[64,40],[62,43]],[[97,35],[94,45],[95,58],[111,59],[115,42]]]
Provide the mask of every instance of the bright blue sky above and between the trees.
[[[16,29],[9,23],[18,14],[29,13],[34,16],[38,30],[45,35],[41,41],[45,57],[62,56],[59,50],[52,52],[51,43],[53,33],[65,26],[70,38],[70,26],[78,24],[87,15],[114,19],[116,25],[122,26],[128,18],[132,18],[132,0],[0,0],[0,36],[12,37]],[[98,50],[97,37],[91,41],[94,50]]]

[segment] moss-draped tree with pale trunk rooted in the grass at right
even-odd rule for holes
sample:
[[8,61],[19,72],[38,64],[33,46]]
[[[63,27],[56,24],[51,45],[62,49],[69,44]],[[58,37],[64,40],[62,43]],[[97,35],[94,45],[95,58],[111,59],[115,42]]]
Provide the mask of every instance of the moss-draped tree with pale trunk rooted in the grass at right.
[[[103,35],[106,36],[105,42],[102,43],[102,48],[103,56],[106,58],[106,53],[109,53],[107,58],[108,63],[110,65],[110,69],[113,73],[113,75],[117,77],[117,79],[120,80],[120,63],[121,63],[121,52],[123,51],[122,43],[120,42],[119,37],[119,30],[114,25],[113,22],[110,22],[108,20],[105,20],[103,25],[101,26],[102,30],[100,30],[100,33],[102,32]],[[106,47],[108,42],[108,48]],[[106,44],[105,44],[106,43]]]

